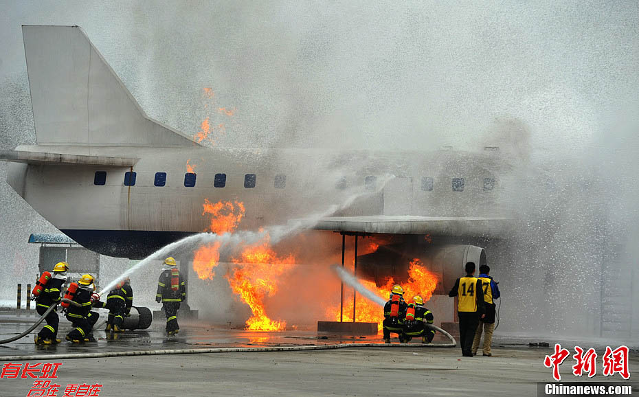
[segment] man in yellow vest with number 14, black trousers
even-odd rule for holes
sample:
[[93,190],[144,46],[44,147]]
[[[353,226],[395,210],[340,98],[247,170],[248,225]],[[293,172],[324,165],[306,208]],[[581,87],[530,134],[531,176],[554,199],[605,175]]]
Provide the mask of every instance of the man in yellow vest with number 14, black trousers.
[[449,297],[458,297],[457,314],[459,317],[459,343],[462,348],[462,356],[472,357],[473,339],[479,319],[486,313],[482,280],[474,276],[475,262],[467,262],[466,275],[459,277]]

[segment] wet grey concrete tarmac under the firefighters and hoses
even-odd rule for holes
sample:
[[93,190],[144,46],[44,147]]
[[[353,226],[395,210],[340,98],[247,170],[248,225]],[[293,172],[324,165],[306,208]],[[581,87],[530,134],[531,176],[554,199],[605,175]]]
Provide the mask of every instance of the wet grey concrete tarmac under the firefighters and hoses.
[[[0,339],[25,329],[24,325],[1,322]],[[250,332],[201,324],[183,324],[181,328],[179,337],[170,339],[157,326],[147,331],[126,332],[117,339],[106,339],[104,331],[96,330],[96,342],[79,346],[63,342],[44,349],[36,348],[30,337],[0,345],[0,356],[381,342],[381,335],[361,339],[318,337],[317,332],[298,330]],[[572,350],[573,345],[562,344]],[[63,396],[67,385],[82,383],[102,385],[99,396],[469,396],[480,391],[491,396],[536,396],[537,382],[552,381],[551,370],[543,366],[552,346],[551,343],[550,348],[529,348],[522,340],[497,337],[492,357],[462,357],[459,348],[420,348],[411,343],[405,348],[390,349],[175,354],[30,363],[62,363],[58,378],[54,379],[60,385],[58,396]],[[572,376],[573,363],[569,357],[560,367],[562,381],[623,381],[618,374],[612,378],[602,376],[603,350],[596,348],[600,356],[594,378]],[[631,352],[629,363],[632,381],[639,371],[636,350]],[[33,382],[33,379],[1,378],[0,396],[26,396]]]

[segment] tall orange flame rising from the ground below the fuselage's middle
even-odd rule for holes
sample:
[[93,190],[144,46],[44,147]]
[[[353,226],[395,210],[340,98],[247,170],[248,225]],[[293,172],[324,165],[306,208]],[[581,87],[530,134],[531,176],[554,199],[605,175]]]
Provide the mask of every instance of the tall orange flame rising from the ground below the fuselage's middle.
[[278,291],[280,277],[295,266],[295,258],[278,257],[269,246],[268,238],[259,245],[247,247],[240,258],[234,258],[236,267],[227,274],[229,286],[251,308],[253,315],[246,321],[248,330],[276,331],[286,328],[286,321],[271,320],[264,308],[266,297]]

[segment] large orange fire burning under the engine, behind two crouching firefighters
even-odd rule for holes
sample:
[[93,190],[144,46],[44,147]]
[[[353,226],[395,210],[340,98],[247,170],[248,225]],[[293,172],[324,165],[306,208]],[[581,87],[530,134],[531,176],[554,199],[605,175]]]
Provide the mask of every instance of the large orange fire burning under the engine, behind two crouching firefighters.
[[[391,288],[396,284],[392,277],[384,286],[378,287],[374,282],[360,280],[363,286],[370,291],[377,293],[383,299],[388,299]],[[412,300],[415,295],[420,295],[424,302],[427,302],[433,295],[433,291],[437,286],[437,276],[426,269],[424,264],[418,258],[410,262],[408,268],[408,281],[399,283],[404,288],[404,299],[407,302]],[[344,293],[344,321],[352,321],[352,293]],[[350,295],[350,296],[349,296]],[[358,296],[355,303],[355,321],[377,323],[377,329],[381,330],[382,321],[384,319],[383,310],[377,304],[370,302],[368,299]],[[339,305],[328,309],[328,315],[339,321]]]

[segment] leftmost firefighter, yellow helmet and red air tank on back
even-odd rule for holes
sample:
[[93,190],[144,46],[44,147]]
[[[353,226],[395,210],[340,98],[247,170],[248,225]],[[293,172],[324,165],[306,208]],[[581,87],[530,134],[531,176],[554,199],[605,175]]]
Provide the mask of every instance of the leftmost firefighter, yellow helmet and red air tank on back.
[[[40,280],[36,282],[34,293],[32,295],[33,300],[36,301],[36,310],[38,315],[45,314],[45,311],[49,309],[51,305],[58,304],[60,302],[60,293],[63,291],[63,286],[67,282],[67,271],[69,270],[69,264],[67,262],[58,262],[54,266],[53,275],[48,272],[43,273]],[[58,324],[60,319],[56,309],[49,312],[45,317],[47,325],[42,328],[38,334],[34,337],[36,345],[50,345],[52,343],[60,343],[58,339]]]

